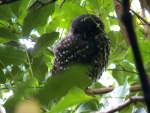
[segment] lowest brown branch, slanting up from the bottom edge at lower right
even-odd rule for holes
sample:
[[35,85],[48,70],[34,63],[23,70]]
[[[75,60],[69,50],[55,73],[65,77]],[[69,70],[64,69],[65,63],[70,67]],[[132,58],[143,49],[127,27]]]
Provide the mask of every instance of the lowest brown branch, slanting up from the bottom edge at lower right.
[[131,103],[137,102],[137,101],[144,101],[144,97],[143,96],[132,96],[129,99],[127,99],[126,101],[124,101],[123,103],[121,103],[120,105],[107,110],[107,111],[98,111],[95,113],[114,113],[116,111],[122,110],[123,108],[127,107],[128,105],[130,105]]

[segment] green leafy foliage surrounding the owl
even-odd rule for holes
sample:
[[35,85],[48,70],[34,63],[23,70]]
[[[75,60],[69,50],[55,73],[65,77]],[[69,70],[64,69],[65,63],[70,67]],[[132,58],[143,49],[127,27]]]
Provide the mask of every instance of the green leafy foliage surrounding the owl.
[[[7,113],[12,113],[20,100],[36,99],[49,113],[91,112],[106,110],[129,96],[142,95],[131,93],[131,85],[140,85],[131,48],[126,47],[114,13],[112,0],[61,0],[45,6],[33,0],[20,0],[0,5],[0,99]],[[105,81],[91,83],[86,76],[87,67],[75,65],[70,70],[51,77],[54,62],[53,45],[69,31],[71,21],[81,14],[98,15],[105,24],[106,34],[111,40],[109,77]],[[133,15],[134,16],[134,15]],[[150,42],[134,16],[134,24],[144,66],[150,73]],[[24,42],[27,43],[25,44]],[[27,45],[34,44],[34,48]],[[101,79],[102,79],[101,78]],[[104,79],[103,79],[104,80]],[[101,80],[100,80],[101,81]],[[107,85],[106,85],[107,84]],[[105,95],[90,96],[85,88],[118,87]],[[13,92],[10,97],[6,93]],[[115,93],[114,93],[115,92]],[[108,103],[109,101],[112,101]],[[145,104],[127,106],[119,112],[136,112],[145,108]]]

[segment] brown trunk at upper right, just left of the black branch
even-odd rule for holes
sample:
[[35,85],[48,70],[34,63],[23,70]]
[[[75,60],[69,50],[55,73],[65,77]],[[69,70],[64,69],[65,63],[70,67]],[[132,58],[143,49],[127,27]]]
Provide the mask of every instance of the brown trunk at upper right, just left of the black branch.
[[125,28],[125,26],[124,26],[124,24],[122,23],[122,20],[121,20],[122,5],[117,0],[113,0],[113,2],[114,2],[114,8],[115,8],[115,11],[116,11],[116,14],[117,14],[118,21],[120,23],[120,28],[121,28],[122,34],[125,38],[127,47],[129,47],[130,42],[129,42],[128,34],[127,34],[126,28]]

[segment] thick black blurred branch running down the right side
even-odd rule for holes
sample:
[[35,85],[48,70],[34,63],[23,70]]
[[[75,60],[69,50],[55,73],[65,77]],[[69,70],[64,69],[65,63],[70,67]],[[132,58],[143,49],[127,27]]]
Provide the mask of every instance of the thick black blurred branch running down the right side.
[[145,97],[147,109],[148,109],[148,112],[150,113],[150,86],[148,82],[148,77],[144,70],[143,61],[142,61],[140,50],[138,47],[136,34],[134,32],[134,28],[132,25],[132,16],[129,10],[130,10],[129,0],[123,0],[122,21],[124,22],[124,25],[126,26],[126,29],[128,32],[128,36],[130,39],[130,43],[131,43],[134,58],[135,58],[136,68],[139,71],[139,78],[141,80],[142,88],[144,91],[144,97]]

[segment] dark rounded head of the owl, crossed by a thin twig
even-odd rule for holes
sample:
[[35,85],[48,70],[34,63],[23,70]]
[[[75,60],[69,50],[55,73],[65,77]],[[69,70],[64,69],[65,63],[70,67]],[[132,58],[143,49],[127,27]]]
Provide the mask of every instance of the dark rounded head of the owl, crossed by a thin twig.
[[104,31],[104,24],[93,14],[83,14],[72,21],[71,31],[73,35],[95,35]]

